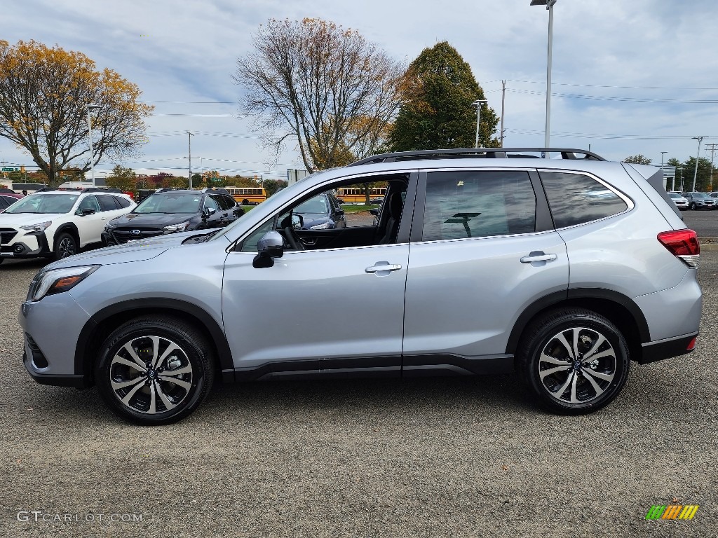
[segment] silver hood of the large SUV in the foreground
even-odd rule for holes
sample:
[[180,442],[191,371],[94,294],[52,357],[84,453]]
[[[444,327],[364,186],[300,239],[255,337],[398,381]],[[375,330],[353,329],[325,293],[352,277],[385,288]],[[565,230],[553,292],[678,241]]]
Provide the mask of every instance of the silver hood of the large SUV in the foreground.
[[75,254],[69,258],[57,260],[47,265],[45,270],[76,267],[77,265],[111,265],[114,263],[141,262],[157,258],[165,250],[181,245],[182,241],[192,235],[197,235],[197,232],[161,235],[146,240],[130,241],[124,245],[90,250],[87,253]]

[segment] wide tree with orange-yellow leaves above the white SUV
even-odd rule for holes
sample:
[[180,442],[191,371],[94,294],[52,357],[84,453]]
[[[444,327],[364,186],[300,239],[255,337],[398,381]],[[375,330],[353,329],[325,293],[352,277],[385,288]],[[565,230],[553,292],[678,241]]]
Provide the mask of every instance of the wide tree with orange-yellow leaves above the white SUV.
[[0,136],[26,149],[50,184],[70,163],[90,169],[89,104],[101,107],[92,118],[95,164],[104,156],[135,155],[153,110],[140,95],[137,85],[112,70],[95,70],[81,52],[0,40]]

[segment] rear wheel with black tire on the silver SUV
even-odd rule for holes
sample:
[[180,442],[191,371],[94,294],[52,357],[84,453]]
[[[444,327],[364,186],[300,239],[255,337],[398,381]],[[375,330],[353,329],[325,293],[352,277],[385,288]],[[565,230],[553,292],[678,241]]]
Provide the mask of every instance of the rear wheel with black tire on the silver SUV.
[[526,328],[516,362],[546,409],[583,415],[605,407],[621,392],[630,354],[623,334],[607,318],[565,308],[544,313]]

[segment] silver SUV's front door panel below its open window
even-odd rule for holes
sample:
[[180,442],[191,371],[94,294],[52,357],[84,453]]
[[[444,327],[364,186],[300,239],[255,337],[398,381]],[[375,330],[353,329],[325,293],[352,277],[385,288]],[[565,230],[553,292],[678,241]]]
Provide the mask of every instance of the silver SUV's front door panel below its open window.
[[223,318],[236,372],[400,374],[409,245],[255,253],[225,262]]

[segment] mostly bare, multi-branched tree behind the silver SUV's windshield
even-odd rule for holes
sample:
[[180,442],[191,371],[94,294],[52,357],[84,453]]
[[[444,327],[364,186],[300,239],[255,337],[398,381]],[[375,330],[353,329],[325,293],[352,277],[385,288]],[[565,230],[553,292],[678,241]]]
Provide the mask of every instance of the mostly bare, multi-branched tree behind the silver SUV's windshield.
[[352,29],[270,19],[237,60],[243,111],[279,153],[296,139],[307,171],[365,156],[393,119],[404,68]]

